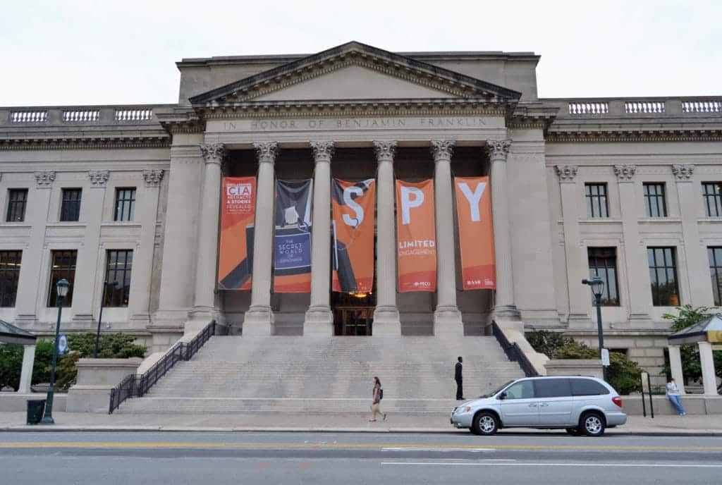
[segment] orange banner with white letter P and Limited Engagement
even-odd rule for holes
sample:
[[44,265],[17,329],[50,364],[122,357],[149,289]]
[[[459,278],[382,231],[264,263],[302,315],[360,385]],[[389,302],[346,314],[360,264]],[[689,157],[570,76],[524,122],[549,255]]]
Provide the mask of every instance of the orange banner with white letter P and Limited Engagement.
[[436,291],[436,224],[433,180],[396,180],[399,292]]

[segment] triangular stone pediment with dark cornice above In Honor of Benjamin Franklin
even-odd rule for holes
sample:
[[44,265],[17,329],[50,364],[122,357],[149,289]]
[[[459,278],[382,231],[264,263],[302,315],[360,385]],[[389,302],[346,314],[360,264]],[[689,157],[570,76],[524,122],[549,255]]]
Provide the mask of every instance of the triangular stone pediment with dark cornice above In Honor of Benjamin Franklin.
[[238,102],[468,99],[516,102],[521,93],[357,42],[191,97],[196,108]]

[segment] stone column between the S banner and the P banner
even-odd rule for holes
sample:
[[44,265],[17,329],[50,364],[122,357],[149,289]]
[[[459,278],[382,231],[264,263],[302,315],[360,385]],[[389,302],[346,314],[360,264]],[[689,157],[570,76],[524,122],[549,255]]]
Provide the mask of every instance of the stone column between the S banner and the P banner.
[[396,141],[374,141],[378,162],[376,198],[376,309],[373,336],[401,335],[396,307],[396,225],[393,213],[393,155]]

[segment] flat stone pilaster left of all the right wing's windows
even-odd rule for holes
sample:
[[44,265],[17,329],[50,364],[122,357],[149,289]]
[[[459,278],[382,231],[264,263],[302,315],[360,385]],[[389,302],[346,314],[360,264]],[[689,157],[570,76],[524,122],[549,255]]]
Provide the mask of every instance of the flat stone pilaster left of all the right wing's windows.
[[567,299],[569,300],[569,323],[589,323],[588,308],[591,294],[582,285],[582,279],[588,278],[584,265],[583,248],[579,237],[579,208],[584,199],[574,181],[577,175],[575,165],[557,165],[554,167],[559,177],[562,193],[562,220],[564,223],[564,256],[567,268]]

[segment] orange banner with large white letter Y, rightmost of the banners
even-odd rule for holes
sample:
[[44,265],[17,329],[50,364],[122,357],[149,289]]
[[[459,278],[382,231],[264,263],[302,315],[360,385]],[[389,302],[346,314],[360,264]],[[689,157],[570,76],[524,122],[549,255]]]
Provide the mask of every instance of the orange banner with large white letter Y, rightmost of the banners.
[[494,229],[488,177],[456,177],[456,215],[464,289],[495,289]]

